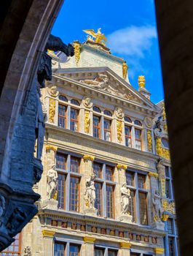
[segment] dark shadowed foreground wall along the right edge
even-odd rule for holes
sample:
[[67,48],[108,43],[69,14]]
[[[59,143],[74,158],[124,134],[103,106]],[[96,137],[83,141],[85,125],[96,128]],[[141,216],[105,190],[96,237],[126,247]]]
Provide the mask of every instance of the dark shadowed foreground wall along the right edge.
[[193,1],[156,0],[181,255],[193,255]]

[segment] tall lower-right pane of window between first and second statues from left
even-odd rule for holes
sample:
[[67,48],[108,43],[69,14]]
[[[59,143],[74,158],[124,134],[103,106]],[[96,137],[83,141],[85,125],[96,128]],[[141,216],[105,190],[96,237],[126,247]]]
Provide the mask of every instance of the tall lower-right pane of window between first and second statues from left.
[[79,178],[70,179],[70,211],[79,211]]

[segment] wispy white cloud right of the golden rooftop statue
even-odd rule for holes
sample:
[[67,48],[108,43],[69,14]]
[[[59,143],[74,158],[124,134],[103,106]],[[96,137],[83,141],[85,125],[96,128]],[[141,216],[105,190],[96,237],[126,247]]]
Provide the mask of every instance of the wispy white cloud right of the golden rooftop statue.
[[154,38],[157,38],[155,26],[130,26],[107,36],[111,52],[139,59],[144,58]]

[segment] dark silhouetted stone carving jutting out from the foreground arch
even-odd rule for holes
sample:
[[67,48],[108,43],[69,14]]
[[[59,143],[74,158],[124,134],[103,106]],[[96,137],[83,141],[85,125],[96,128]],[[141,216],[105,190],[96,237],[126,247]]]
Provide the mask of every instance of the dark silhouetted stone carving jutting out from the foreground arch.
[[42,88],[44,87],[44,80],[52,80],[52,58],[47,55],[48,49],[54,51],[60,50],[66,56],[74,56],[74,48],[71,44],[66,45],[59,37],[50,34],[37,71],[38,82]]

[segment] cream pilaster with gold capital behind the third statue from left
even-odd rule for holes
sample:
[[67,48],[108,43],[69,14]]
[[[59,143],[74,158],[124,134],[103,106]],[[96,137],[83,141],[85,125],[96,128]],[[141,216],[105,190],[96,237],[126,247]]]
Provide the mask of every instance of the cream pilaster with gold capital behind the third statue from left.
[[114,204],[115,204],[115,217],[121,215],[120,201],[121,201],[121,187],[126,182],[125,170],[127,165],[117,164],[114,170],[114,180],[119,181],[114,189]]

